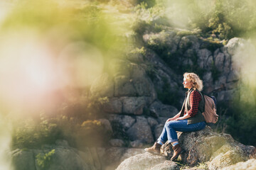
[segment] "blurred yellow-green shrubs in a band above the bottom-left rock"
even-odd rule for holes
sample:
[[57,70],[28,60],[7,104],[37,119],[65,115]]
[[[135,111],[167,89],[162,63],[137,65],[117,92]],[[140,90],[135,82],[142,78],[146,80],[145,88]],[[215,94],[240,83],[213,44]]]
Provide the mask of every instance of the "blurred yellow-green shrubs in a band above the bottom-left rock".
[[72,147],[103,146],[112,135],[99,120],[82,120],[82,117],[58,115],[46,118],[41,115],[41,120],[18,122],[12,134],[13,149],[40,148],[52,145],[56,140],[67,140]]

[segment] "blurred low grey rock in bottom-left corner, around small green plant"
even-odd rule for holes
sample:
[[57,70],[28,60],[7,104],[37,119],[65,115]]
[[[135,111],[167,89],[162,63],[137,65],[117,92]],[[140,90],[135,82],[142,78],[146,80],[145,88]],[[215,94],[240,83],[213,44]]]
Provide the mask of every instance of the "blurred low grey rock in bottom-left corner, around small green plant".
[[[68,170],[68,169],[88,169],[88,170],[96,170],[100,168],[100,164],[95,167],[96,161],[88,161],[88,159],[82,159],[82,154],[84,152],[78,152],[77,149],[73,149],[71,147],[61,147],[61,146],[51,146],[50,149],[36,150],[36,149],[28,149],[27,151],[22,151],[21,149],[17,149],[12,153],[12,160],[15,169],[41,169],[36,160],[36,155],[41,154],[42,156],[52,149],[55,149],[54,154],[52,155],[50,162],[48,162],[46,167],[49,170]],[[92,152],[90,152],[92,153]],[[87,157],[91,157],[92,155],[88,155]],[[93,157],[93,156],[92,156]],[[93,164],[92,164],[93,162]]]

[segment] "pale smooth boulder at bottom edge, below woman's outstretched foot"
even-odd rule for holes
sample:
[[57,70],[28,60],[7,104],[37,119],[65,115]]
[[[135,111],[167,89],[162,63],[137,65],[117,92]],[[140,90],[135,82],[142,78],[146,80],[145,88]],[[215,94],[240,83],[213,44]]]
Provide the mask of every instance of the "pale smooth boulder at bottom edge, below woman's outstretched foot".
[[166,160],[166,157],[144,153],[137,154],[134,157],[125,159],[118,167],[117,170],[176,170],[179,169],[175,162]]

